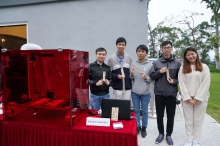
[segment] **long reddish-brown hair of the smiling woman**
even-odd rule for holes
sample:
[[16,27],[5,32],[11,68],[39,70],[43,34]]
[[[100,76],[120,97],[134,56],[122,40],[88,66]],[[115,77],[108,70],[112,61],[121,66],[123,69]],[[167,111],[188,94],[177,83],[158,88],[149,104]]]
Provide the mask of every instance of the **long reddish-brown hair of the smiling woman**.
[[192,72],[192,69],[190,67],[190,62],[186,59],[186,54],[187,54],[188,51],[193,51],[197,54],[197,58],[196,58],[196,61],[195,61],[195,70],[201,72],[203,70],[202,62],[199,59],[199,54],[198,54],[197,50],[193,47],[186,48],[186,50],[184,52],[183,71],[182,72],[183,73],[191,73]]

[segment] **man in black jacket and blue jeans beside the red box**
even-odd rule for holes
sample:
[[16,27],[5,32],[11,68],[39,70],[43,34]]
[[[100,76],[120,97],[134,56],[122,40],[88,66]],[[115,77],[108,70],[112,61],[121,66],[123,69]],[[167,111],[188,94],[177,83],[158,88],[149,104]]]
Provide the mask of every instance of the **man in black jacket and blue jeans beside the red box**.
[[96,49],[96,61],[89,65],[90,106],[92,109],[101,108],[102,98],[110,98],[111,69],[104,63],[107,51]]

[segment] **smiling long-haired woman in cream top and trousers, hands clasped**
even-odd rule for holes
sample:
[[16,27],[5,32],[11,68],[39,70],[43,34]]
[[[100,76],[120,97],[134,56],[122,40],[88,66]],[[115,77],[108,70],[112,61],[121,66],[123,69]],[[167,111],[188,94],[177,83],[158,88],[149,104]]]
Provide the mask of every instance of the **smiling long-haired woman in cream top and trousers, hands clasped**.
[[210,71],[208,66],[200,61],[195,48],[189,47],[185,50],[178,78],[188,139],[184,146],[199,146],[210,96]]

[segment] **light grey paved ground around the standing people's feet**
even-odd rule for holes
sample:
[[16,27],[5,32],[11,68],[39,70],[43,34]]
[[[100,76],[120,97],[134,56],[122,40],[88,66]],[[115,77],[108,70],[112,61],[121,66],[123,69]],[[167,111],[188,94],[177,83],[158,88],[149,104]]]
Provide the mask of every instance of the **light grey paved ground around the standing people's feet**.
[[[176,111],[174,130],[172,138],[175,146],[183,146],[186,141],[184,119],[181,117],[180,112],[182,113],[182,108]],[[165,115],[166,117],[166,115]],[[166,123],[166,119],[164,118]],[[139,146],[168,146],[166,140],[164,139],[162,143],[155,144],[155,139],[158,136],[157,122],[156,119],[148,119],[148,128],[147,136],[142,138],[141,135],[138,135],[138,145]],[[203,125],[203,134],[202,140],[200,143],[201,146],[220,146],[220,124],[217,123],[209,115],[205,116],[205,121]]]

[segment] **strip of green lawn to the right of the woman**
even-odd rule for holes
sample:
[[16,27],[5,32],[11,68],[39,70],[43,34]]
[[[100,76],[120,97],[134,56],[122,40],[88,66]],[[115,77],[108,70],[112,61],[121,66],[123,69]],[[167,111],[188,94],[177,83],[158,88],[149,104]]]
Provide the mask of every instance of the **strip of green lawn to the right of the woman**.
[[207,113],[220,123],[220,72],[211,72]]

